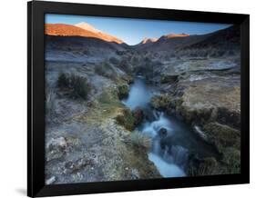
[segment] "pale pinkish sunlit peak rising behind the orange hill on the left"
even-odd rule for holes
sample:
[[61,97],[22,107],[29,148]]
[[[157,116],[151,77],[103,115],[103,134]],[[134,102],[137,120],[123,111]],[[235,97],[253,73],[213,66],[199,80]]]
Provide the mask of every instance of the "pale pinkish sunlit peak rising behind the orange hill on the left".
[[94,26],[89,25],[85,22],[79,23],[77,25],[75,25],[77,27],[80,27],[84,30],[90,31],[94,34],[96,34],[98,36],[98,38],[101,38],[102,40],[108,41],[108,42],[116,42],[118,44],[123,44],[124,42],[120,39],[118,39],[117,37],[113,36],[113,35],[108,35],[108,33],[104,33],[100,30],[97,30]]

